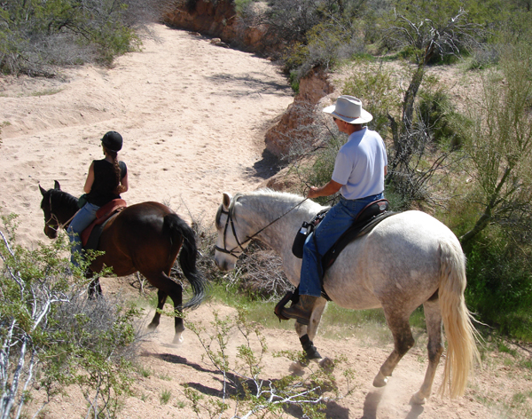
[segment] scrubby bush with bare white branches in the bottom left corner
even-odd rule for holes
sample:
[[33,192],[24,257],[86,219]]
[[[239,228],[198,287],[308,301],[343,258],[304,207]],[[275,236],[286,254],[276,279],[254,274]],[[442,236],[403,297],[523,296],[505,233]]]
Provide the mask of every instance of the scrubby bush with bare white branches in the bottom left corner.
[[0,415],[26,415],[24,407],[40,388],[38,413],[54,395],[77,385],[88,415],[115,417],[121,397],[129,394],[137,310],[88,300],[81,270],[60,256],[70,253],[66,237],[25,249],[16,244],[14,219],[3,217],[5,233],[0,231]]

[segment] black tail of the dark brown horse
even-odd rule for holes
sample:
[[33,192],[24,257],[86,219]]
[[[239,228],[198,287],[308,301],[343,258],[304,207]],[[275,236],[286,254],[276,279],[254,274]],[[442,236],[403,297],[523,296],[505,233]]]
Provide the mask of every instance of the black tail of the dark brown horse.
[[183,308],[197,308],[207,296],[207,281],[196,269],[196,238],[192,228],[176,214],[168,214],[164,217],[164,228],[172,233],[173,240],[181,241],[183,245],[179,252],[179,265],[185,278],[191,283],[192,298],[183,304]]

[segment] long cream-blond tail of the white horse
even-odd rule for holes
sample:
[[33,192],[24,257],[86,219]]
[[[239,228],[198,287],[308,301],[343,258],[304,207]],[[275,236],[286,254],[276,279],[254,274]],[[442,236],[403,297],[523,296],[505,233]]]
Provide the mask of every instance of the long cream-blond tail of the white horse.
[[465,305],[466,282],[465,256],[460,244],[458,241],[442,241],[438,295],[447,336],[447,357],[439,393],[444,396],[449,391],[451,399],[464,394],[467,376],[473,371],[474,362],[480,363],[481,360],[476,347],[477,332]]

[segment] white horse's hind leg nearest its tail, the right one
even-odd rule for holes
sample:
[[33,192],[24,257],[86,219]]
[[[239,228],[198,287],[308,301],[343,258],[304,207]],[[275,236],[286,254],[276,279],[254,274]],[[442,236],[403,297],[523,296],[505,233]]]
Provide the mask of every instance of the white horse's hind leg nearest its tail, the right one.
[[426,398],[430,396],[436,368],[440,362],[443,352],[443,329],[442,329],[442,312],[438,299],[428,300],[423,304],[426,319],[426,332],[428,334],[428,367],[426,368],[425,380],[419,391],[412,396],[412,403],[424,404]]

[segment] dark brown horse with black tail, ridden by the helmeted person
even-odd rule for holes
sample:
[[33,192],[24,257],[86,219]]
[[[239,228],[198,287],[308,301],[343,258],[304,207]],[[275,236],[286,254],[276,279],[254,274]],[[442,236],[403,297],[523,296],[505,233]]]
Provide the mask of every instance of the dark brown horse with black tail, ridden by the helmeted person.
[[[55,181],[48,191],[39,186],[43,201],[44,233],[55,239],[58,230],[66,228],[78,210],[77,198],[61,191]],[[183,249],[181,247],[183,246]],[[181,249],[181,252],[179,252]],[[117,276],[142,273],[158,291],[157,308],[162,309],[167,296],[174,302],[176,312],[196,308],[206,296],[206,281],[196,269],[196,240],[192,228],[172,209],[159,202],[142,202],[123,209],[105,225],[98,243],[98,251],[105,252],[90,265],[90,275],[99,273],[104,266],[111,267]],[[193,296],[183,303],[183,288],[172,280],[170,270],[179,254],[179,265],[192,285]],[[98,277],[90,284],[91,293],[100,293]],[[157,328],[160,312],[155,312],[148,328]],[[183,341],[183,319],[176,316],[174,343]]]

